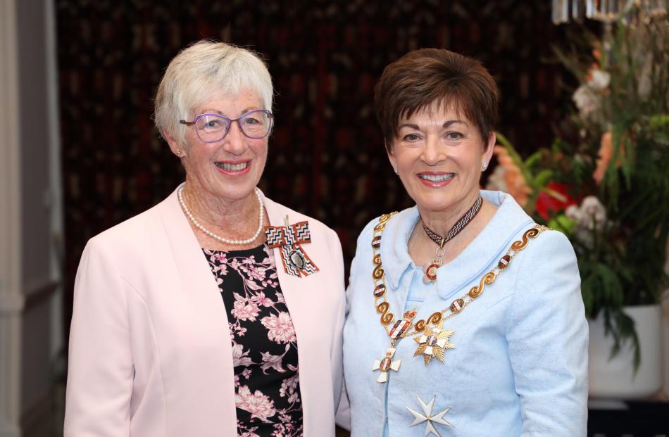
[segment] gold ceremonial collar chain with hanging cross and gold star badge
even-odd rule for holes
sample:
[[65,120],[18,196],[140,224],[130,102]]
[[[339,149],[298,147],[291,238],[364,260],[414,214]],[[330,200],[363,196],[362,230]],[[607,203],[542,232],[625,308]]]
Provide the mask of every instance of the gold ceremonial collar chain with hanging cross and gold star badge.
[[[468,293],[461,298],[454,300],[451,305],[441,311],[433,312],[427,319],[418,320],[413,323],[415,317],[415,310],[404,312],[401,319],[395,320],[395,315],[390,312],[390,303],[386,299],[386,282],[385,272],[381,264],[381,236],[386,227],[387,222],[396,214],[384,214],[379,219],[379,223],[374,227],[374,235],[372,239],[372,249],[374,263],[374,270],[372,277],[374,279],[374,306],[376,312],[381,315],[380,322],[384,327],[386,333],[390,337],[390,347],[386,350],[385,357],[382,360],[375,360],[372,370],[380,370],[381,374],[377,379],[378,382],[386,382],[389,370],[394,372],[399,371],[401,360],[392,360],[395,353],[395,345],[401,338],[406,336],[415,336],[413,339],[418,343],[414,357],[423,356],[425,366],[429,365],[432,358],[437,358],[440,362],[444,362],[444,351],[446,349],[454,349],[455,346],[449,342],[449,337],[454,334],[454,331],[443,329],[443,324],[446,320],[454,315],[461,313],[467,305],[473,300],[481,296],[486,285],[492,284],[495,279],[503,272],[511,263],[513,257],[518,252],[522,251],[529,243],[530,239],[536,238],[542,232],[549,228],[535,224],[532,228],[527,229],[523,234],[521,240],[514,241],[511,247],[506,251],[506,255],[499,259],[497,265],[492,270],[481,277],[479,284],[473,286]],[[449,314],[446,315],[446,312]]]

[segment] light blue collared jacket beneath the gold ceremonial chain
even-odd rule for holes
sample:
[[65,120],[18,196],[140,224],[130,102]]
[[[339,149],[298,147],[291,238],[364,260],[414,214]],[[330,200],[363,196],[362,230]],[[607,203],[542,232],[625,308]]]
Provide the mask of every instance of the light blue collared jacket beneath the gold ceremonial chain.
[[[415,308],[414,322],[451,305],[478,284],[513,241],[534,222],[511,196],[481,191],[499,206],[492,220],[458,257],[439,268],[436,284],[423,284],[423,270],[407,251],[418,221],[409,208],[387,224],[381,241],[387,300],[396,319]],[[351,404],[351,436],[423,436],[427,422],[414,420],[407,407],[432,415],[450,407],[443,418],[454,428],[432,422],[446,436],[585,436],[587,430],[588,328],[573,248],[560,232],[531,239],[493,284],[463,312],[444,323],[454,330],[444,364],[425,367],[413,357],[417,343],[403,338],[389,381],[377,382],[372,370],[389,347],[375,311],[372,279],[373,227],[358,238],[347,295],[344,326],[344,374]],[[446,312],[449,314],[449,312]]]

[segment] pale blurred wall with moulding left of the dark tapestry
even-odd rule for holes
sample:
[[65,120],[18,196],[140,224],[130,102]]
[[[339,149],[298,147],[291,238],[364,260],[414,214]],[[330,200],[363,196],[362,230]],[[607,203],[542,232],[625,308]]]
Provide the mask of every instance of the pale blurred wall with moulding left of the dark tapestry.
[[54,7],[0,0],[0,437],[51,414],[63,346]]

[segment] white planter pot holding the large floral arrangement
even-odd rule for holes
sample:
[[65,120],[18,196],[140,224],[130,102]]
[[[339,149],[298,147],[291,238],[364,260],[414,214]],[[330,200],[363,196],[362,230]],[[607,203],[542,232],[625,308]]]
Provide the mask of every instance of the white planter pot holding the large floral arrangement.
[[591,398],[634,399],[662,389],[662,312],[660,305],[625,307],[632,317],[641,346],[641,365],[634,374],[634,348],[627,342],[611,360],[613,338],[604,336],[604,317],[588,320],[589,395]]

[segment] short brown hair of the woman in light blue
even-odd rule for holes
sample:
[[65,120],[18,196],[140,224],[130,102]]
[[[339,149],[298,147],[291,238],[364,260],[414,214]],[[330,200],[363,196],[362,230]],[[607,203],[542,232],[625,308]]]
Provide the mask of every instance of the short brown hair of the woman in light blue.
[[494,132],[499,91],[479,61],[445,49],[410,51],[384,68],[374,87],[374,106],[386,148],[400,118],[434,101],[473,122],[484,141]]

